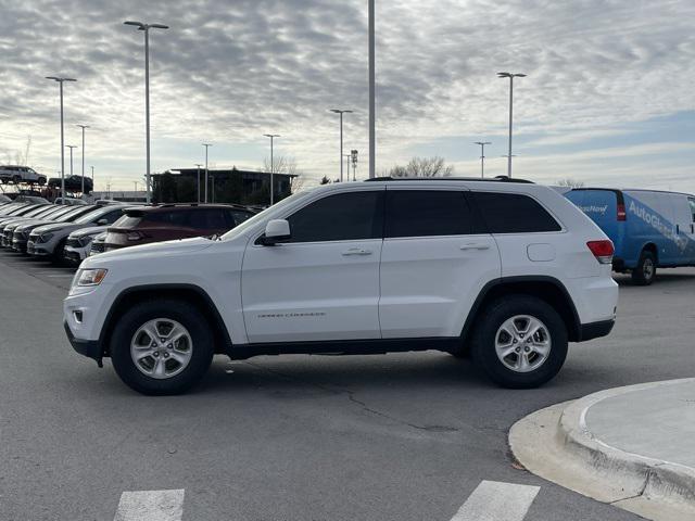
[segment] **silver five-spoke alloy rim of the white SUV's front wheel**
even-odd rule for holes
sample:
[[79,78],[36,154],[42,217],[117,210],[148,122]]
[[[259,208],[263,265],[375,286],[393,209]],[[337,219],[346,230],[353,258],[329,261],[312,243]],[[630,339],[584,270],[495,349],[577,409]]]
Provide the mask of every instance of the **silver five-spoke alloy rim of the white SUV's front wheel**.
[[170,318],[155,318],[138,328],[130,341],[130,357],[143,374],[165,380],[186,369],[193,355],[188,330]]

